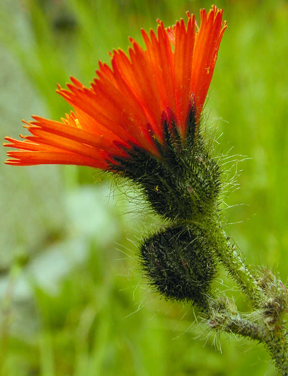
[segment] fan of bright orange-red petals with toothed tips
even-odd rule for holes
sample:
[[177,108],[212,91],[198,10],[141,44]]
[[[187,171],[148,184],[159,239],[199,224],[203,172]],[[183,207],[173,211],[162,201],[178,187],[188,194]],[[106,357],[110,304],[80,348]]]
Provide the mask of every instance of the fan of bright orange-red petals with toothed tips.
[[[121,50],[111,54],[112,69],[99,63],[90,88],[71,77],[57,92],[74,108],[61,122],[33,116],[24,122],[31,135],[5,139],[8,165],[68,164],[113,169],[132,158],[135,147],[161,158],[165,144],[163,120],[173,122],[185,143],[189,117],[197,125],[212,78],[218,49],[227,25],[215,6],[200,10],[200,27],[187,12],[165,28],[158,21],[156,34],[142,30],[146,49],[130,38],[128,56]],[[159,147],[160,146],[160,147]]]

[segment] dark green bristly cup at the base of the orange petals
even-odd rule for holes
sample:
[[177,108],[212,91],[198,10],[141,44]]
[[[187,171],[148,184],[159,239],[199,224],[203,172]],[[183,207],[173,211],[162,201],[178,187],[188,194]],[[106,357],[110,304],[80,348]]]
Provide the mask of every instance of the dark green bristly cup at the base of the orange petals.
[[202,140],[194,111],[187,120],[184,139],[175,122],[163,116],[164,144],[157,140],[161,158],[132,146],[127,159],[117,160],[113,170],[140,186],[155,212],[172,220],[199,221],[210,216],[220,192],[220,169]]

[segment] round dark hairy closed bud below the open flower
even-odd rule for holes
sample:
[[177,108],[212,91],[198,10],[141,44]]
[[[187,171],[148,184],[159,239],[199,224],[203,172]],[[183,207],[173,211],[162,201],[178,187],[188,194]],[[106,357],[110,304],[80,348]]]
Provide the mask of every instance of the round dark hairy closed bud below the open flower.
[[150,283],[159,292],[206,308],[215,263],[200,230],[165,229],[143,242],[141,259]]

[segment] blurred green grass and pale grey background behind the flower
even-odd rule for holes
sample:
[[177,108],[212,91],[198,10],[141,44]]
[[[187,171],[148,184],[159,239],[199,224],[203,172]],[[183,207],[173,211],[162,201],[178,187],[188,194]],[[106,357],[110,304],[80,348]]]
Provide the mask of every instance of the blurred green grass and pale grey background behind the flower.
[[[1,0],[0,132],[17,137],[31,114],[58,120],[55,94],[86,85],[107,51],[140,28],[171,25],[207,1]],[[228,29],[205,111],[219,152],[246,155],[225,201],[228,232],[246,261],[288,272],[288,3],[219,1]],[[154,222],[88,168],[4,165],[1,148],[1,376],[271,376],[262,345],[207,336],[188,304],[151,291],[137,242]],[[238,157],[242,159],[242,157]],[[232,175],[235,172],[232,167]],[[242,205],[238,205],[242,204]],[[220,274],[222,277],[222,274]],[[219,277],[218,288],[231,286]],[[239,309],[248,307],[238,291]],[[199,320],[199,318],[198,318]],[[220,351],[222,349],[222,352]]]

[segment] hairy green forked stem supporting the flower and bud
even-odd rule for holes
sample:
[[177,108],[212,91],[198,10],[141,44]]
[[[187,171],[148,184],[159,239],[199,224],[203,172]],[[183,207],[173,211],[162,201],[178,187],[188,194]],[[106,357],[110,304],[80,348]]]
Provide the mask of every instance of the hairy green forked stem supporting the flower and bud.
[[235,246],[229,242],[220,223],[214,222],[207,228],[209,230],[206,234],[215,255],[252,306],[258,310],[258,320],[255,323],[243,318],[237,309],[231,308],[232,304],[227,298],[214,302],[210,310],[211,327],[263,343],[279,374],[288,376],[288,338],[282,327],[283,315],[287,308],[285,287],[272,274],[273,278],[266,273],[269,288],[263,288],[236,252]]

